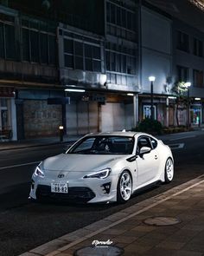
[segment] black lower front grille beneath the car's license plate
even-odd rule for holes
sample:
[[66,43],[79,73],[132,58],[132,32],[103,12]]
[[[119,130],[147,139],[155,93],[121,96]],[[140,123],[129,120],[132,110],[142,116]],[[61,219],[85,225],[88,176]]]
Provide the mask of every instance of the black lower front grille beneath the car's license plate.
[[37,200],[53,199],[53,200],[70,200],[73,202],[87,202],[92,200],[96,195],[89,187],[69,187],[67,194],[52,193],[50,186],[38,185],[36,189]]

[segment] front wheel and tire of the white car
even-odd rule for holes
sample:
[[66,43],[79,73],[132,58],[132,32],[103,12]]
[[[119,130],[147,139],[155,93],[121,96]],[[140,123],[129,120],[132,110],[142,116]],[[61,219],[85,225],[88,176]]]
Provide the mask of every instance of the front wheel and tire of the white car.
[[120,174],[117,186],[117,201],[118,203],[125,203],[131,198],[132,180],[131,174],[128,171],[123,171]]

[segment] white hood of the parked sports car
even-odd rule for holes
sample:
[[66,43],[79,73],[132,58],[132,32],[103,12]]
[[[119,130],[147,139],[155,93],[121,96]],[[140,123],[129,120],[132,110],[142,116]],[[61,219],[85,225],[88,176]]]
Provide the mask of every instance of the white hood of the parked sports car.
[[89,172],[103,167],[112,167],[114,161],[126,159],[126,155],[107,154],[58,154],[43,161],[47,171]]

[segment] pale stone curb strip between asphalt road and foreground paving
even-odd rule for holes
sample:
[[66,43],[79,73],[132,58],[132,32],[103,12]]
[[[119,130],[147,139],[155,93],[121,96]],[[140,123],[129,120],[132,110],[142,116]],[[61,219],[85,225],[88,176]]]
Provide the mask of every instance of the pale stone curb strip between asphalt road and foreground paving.
[[19,256],[54,256],[59,253],[63,253],[67,249],[92,238],[94,235],[104,232],[113,226],[117,226],[118,224],[123,223],[125,220],[129,220],[130,218],[143,213],[152,207],[156,207],[164,201],[169,200],[178,194],[182,194],[203,182],[204,174],[198,176],[194,180],[183,183],[177,187],[173,187],[163,194],[159,194],[150,199],[143,200],[131,207],[121,210],[118,213],[113,213],[103,220],[96,221],[72,233],[67,233],[58,239],[51,240],[48,243],[38,246],[27,253],[22,253]]

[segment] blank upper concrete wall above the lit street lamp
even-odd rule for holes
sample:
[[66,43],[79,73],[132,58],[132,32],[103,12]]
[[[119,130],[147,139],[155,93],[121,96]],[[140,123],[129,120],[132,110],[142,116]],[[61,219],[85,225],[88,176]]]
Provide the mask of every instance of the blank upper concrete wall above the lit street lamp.
[[142,91],[150,92],[149,76],[156,76],[154,92],[166,93],[171,76],[171,20],[142,8]]

